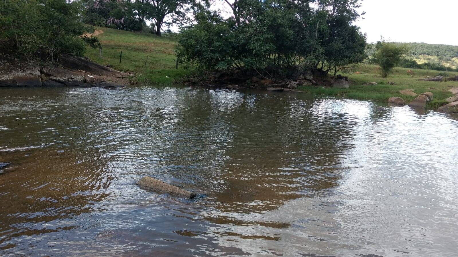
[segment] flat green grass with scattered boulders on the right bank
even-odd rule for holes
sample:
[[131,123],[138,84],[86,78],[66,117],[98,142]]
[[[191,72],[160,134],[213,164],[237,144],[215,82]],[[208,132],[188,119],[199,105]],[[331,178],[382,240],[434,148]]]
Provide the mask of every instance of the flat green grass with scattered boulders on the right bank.
[[[414,76],[407,74],[407,70],[412,70]],[[354,74],[355,71],[361,74]],[[369,99],[387,102],[388,98],[392,96],[399,96],[406,102],[414,100],[414,96],[401,95],[398,91],[401,89],[414,88],[414,92],[420,94],[422,92],[430,91],[434,94],[434,100],[428,104],[430,108],[437,108],[445,103],[447,97],[453,96],[448,92],[450,86],[458,86],[458,82],[434,82],[434,81],[421,81],[424,78],[427,70],[420,69],[407,69],[407,68],[394,68],[393,73],[388,75],[387,78],[382,78],[380,75],[380,68],[371,64],[358,64],[351,70],[350,74],[343,74],[348,76],[351,82],[349,89],[336,89],[336,88],[322,88],[313,86],[301,86],[299,90],[307,91],[313,94],[321,95],[335,95],[344,96],[352,99]],[[430,70],[429,76],[436,76],[440,71]],[[456,72],[448,73],[449,76],[456,76]],[[366,82],[376,82],[378,85],[363,86]],[[390,85],[389,82],[394,82],[395,85]],[[436,89],[428,89],[434,87]]]

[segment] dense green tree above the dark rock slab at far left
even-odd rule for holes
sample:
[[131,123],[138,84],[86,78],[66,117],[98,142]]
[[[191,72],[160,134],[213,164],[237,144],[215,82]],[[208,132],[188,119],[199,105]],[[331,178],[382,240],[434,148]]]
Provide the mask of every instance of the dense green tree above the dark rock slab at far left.
[[5,0],[0,9],[0,44],[28,58],[38,49],[58,60],[60,52],[82,56],[86,44],[81,35],[93,31],[82,22],[83,6],[66,0]]

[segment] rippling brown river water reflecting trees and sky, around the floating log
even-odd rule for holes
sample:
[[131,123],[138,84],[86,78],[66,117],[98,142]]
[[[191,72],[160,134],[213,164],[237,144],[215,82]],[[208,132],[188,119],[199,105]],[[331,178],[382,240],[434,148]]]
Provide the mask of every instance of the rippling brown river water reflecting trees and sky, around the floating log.
[[142,86],[2,89],[0,117],[2,256],[456,255],[453,116]]

